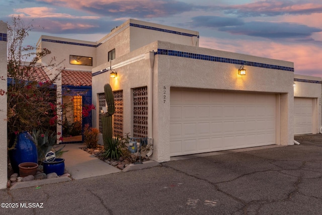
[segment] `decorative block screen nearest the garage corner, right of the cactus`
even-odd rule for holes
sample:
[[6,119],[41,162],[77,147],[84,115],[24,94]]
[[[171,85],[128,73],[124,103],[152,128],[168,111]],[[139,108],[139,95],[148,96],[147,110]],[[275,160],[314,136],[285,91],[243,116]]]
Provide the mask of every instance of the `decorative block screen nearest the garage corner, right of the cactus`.
[[133,89],[133,137],[147,137],[147,87]]

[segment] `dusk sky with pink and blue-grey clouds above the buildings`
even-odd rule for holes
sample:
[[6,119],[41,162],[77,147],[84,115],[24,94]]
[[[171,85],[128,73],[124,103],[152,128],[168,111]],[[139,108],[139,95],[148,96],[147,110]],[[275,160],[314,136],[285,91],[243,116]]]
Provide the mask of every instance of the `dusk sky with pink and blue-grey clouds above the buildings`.
[[[0,20],[20,15],[40,35],[97,41],[127,19],[199,31],[200,46],[294,62],[322,77],[321,0],[0,0]],[[33,21],[32,21],[33,20]]]

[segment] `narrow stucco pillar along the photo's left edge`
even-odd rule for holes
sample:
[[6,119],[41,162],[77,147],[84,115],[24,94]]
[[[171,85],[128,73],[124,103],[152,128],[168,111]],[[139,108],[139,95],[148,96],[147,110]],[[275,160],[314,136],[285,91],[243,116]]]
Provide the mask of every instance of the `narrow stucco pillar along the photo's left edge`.
[[7,188],[7,23],[0,21],[0,189]]

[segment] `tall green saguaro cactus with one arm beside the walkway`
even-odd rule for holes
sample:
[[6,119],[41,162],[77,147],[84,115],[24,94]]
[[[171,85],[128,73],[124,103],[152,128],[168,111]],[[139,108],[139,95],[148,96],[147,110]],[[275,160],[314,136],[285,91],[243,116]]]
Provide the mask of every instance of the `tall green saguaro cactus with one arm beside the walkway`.
[[107,103],[107,112],[102,115],[102,133],[104,149],[108,150],[108,139],[113,138],[112,116],[115,112],[114,95],[109,84],[104,85],[105,100]]

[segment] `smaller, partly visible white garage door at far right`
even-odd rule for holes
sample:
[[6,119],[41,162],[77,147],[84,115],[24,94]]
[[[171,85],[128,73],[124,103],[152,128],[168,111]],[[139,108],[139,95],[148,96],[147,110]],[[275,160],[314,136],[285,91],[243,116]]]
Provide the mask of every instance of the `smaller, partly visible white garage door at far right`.
[[312,133],[312,98],[294,98],[294,134]]

